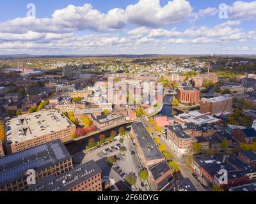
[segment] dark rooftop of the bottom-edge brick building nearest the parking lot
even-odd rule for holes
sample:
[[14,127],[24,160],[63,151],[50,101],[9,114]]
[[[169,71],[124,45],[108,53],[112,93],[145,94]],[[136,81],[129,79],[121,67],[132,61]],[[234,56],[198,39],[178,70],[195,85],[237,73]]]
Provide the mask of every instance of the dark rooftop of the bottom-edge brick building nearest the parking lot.
[[[68,191],[72,187],[101,172],[102,170],[95,161],[89,161],[61,175],[46,177],[37,182],[35,186],[30,187],[27,191]],[[101,180],[101,177],[99,179]]]

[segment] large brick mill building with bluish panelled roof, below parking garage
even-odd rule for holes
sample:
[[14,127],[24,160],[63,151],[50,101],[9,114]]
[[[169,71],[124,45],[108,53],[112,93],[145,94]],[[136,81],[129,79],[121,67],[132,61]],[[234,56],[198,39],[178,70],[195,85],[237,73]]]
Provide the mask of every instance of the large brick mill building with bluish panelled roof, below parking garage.
[[35,170],[37,182],[50,175],[60,175],[72,168],[72,156],[61,140],[44,143],[0,158],[0,191],[28,189],[28,170]]

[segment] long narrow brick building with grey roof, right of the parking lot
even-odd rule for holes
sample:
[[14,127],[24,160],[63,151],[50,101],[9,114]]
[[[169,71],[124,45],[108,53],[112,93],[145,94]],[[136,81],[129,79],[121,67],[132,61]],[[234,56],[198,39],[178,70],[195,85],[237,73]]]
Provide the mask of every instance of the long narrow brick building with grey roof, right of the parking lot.
[[164,156],[158,149],[152,136],[142,122],[135,122],[131,125],[131,136],[136,142],[136,150],[143,166],[154,166],[164,161]]

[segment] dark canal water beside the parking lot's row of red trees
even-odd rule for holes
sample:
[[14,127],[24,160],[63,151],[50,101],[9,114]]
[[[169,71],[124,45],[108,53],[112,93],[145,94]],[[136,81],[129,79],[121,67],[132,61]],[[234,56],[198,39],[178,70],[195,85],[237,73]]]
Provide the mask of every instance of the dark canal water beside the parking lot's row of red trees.
[[130,131],[131,129],[127,128],[130,125],[131,124],[124,124],[122,126],[119,126],[119,127],[113,128],[113,129],[109,129],[108,131],[104,131],[104,133],[98,133],[96,135],[92,135],[88,138],[84,138],[84,139],[81,139],[79,141],[74,141],[74,142],[71,142],[71,143],[67,143],[65,146],[67,147],[68,152],[70,152],[70,154],[76,154],[78,152],[83,151],[86,148],[86,146],[89,143],[90,138],[94,138],[95,141],[98,142],[100,140],[99,136],[101,134],[104,134],[104,135],[106,135],[106,138],[109,138],[110,134],[111,134],[111,131],[116,131],[116,133],[118,134],[118,131],[119,131],[120,127],[124,127],[126,131]]

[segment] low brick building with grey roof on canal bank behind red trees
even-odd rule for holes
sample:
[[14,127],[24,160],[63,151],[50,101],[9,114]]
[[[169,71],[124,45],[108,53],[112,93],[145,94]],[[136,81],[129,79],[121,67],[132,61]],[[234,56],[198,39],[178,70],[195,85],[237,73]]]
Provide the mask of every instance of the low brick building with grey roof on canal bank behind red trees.
[[118,124],[121,125],[124,124],[124,122],[125,117],[120,114],[99,115],[96,117],[96,119],[93,120],[93,123],[95,124],[95,126],[97,126],[98,129],[118,126]]

